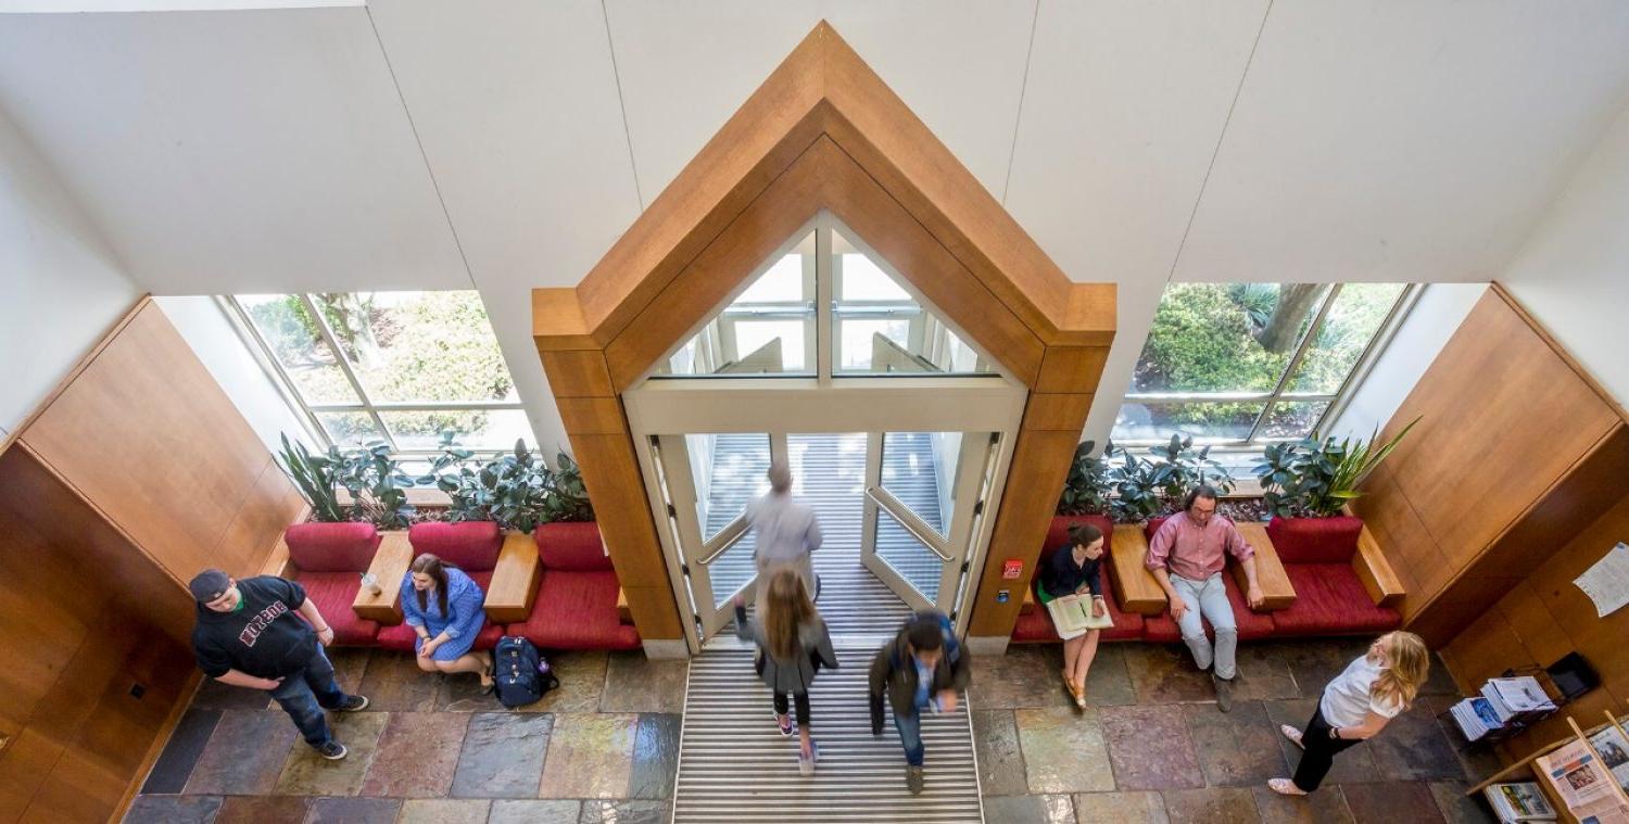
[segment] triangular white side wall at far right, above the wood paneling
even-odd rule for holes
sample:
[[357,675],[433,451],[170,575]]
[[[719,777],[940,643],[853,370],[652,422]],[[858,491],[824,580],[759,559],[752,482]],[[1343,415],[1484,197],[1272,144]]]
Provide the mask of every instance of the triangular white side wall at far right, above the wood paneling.
[[1499,282],[1629,404],[1629,106]]

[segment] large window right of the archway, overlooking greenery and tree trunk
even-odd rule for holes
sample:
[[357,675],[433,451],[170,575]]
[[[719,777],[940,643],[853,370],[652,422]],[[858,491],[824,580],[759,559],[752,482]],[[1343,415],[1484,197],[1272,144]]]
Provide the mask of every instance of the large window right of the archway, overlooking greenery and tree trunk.
[[1394,326],[1406,283],[1171,283],[1114,443],[1251,449],[1311,435]]

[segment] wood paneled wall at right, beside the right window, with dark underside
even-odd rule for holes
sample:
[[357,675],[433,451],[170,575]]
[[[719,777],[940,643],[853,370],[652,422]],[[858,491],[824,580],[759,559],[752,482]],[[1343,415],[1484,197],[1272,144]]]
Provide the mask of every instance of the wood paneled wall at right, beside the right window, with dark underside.
[[1404,625],[1440,646],[1613,506],[1629,430],[1499,287],[1381,438],[1416,417],[1354,510],[1407,588]]

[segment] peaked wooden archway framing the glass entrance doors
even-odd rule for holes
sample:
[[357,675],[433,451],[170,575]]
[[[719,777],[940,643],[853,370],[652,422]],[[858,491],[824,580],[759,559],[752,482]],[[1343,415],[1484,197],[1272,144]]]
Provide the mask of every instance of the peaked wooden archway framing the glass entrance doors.
[[533,290],[538,353],[647,640],[683,627],[619,394],[823,208],[1030,389],[969,625],[1012,633],[1114,339],[1114,287],[1070,282],[823,21],[582,283]]

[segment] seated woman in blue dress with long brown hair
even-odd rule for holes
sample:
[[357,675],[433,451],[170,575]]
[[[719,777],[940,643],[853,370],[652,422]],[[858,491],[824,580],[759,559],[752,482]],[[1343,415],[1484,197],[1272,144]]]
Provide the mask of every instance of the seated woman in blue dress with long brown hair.
[[485,599],[464,570],[428,552],[412,560],[402,578],[402,620],[419,633],[419,669],[477,673],[492,690],[492,653],[471,651],[487,619]]

